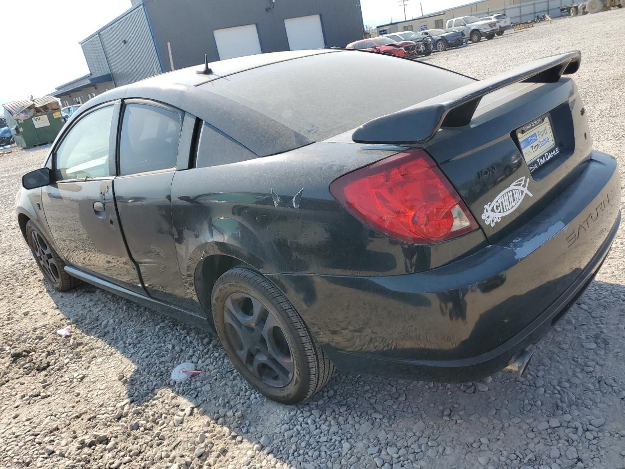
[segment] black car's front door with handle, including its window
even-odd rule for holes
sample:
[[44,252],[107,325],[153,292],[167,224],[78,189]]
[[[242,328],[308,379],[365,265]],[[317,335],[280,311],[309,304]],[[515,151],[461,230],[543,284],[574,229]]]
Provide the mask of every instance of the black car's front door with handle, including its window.
[[47,224],[59,254],[83,271],[143,291],[114,203],[118,103],[90,109],[52,153],[53,183],[42,188]]

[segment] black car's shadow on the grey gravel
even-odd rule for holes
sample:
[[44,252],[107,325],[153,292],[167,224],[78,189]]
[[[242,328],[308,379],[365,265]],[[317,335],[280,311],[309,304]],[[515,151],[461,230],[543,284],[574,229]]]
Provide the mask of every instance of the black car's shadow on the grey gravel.
[[[502,425],[507,416],[534,411],[556,415],[563,408],[556,395],[542,395],[542,402],[538,404],[519,398],[531,383],[507,373],[497,373],[492,381],[486,380],[489,390],[485,392],[476,391],[475,383],[417,382],[337,373],[322,391],[306,402],[296,406],[279,405],[249,388],[229,363],[217,339],[207,331],[179,323],[90,285],[83,284],[68,293],[53,291],[47,284],[46,289],[73,328],[74,336],[84,334],[102,341],[134,365],[125,368],[134,368],[131,372],[120,371],[118,379],[126,386],[126,400],[118,406],[141,414],[154,396],[169,390],[176,395],[169,396],[169,400],[179,401],[180,409],[195,409],[191,418],[200,419],[198,424],[209,427],[207,433],[216,431],[219,438],[241,436],[251,445],[261,441],[263,435],[271,435],[269,441],[263,441],[262,451],[282,461],[289,459],[293,445],[304,444],[297,440],[302,438],[302,433],[297,436],[291,431],[294,426],[299,430],[310,427],[315,438],[327,436],[329,442],[332,435],[360,442],[361,446],[354,446],[343,455],[349,460],[351,455],[366,452],[372,445],[409,448],[414,441],[411,443],[408,435],[418,433],[419,430],[413,428],[419,421],[434,425],[441,435],[447,431],[444,428],[449,430],[457,421],[466,421],[475,431],[454,435],[446,443],[461,449],[462,445],[473,441],[475,435],[484,435],[484,431]],[[594,297],[603,295],[604,291],[625,298],[625,286],[601,281],[593,282],[584,295]],[[579,328],[596,320],[592,309],[582,304],[582,300],[584,296],[535,347],[536,358],[529,369],[533,378],[536,373],[546,371],[552,380],[565,381],[571,369],[582,362],[581,346],[570,341],[572,336],[583,335]],[[77,303],[88,306],[78,308]],[[91,309],[93,305],[98,305],[95,310]],[[614,315],[611,317],[614,323],[622,323],[625,316],[622,308],[614,308]],[[570,360],[576,364],[571,365]],[[194,363],[202,374],[178,383],[172,381],[171,370],[186,361]],[[575,393],[576,386],[571,383],[568,391]],[[580,393],[586,392],[581,383],[577,387]],[[175,415],[174,412],[163,418],[172,421]],[[325,428],[327,435],[321,435],[319,428]],[[341,429],[340,433],[337,428]],[[338,448],[340,452],[341,445]],[[374,456],[370,456],[372,460]],[[446,457],[442,453],[439,456]],[[208,457],[207,453],[201,459]]]

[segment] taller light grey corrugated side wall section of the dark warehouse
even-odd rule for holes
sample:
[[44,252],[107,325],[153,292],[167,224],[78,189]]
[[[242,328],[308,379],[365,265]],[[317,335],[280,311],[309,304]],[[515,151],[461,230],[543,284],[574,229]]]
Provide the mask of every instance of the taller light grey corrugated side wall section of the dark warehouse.
[[143,6],[100,31],[99,38],[116,86],[162,72]]

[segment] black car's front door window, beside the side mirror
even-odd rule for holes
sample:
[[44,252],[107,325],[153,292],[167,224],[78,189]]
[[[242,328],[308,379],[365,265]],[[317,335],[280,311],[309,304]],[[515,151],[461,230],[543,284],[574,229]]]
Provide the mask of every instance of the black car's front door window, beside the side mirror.
[[54,179],[103,178],[109,170],[109,139],[113,106],[81,118],[56,149]]

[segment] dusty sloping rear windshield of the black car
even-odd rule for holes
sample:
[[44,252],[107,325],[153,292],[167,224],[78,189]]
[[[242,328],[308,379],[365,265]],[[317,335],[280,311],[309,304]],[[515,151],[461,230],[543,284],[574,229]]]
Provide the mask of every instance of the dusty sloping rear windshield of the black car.
[[[380,80],[377,71],[384,71]],[[472,79],[384,54],[334,52],[201,85],[316,141],[420,103]]]

